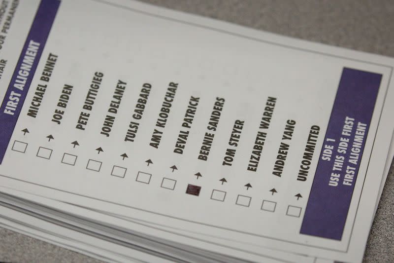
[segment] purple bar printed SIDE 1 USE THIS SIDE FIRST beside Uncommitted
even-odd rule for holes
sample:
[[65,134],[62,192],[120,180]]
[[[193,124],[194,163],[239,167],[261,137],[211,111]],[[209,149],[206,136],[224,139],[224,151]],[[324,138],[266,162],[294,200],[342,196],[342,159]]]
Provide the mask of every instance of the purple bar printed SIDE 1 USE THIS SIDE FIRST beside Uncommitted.
[[301,234],[342,239],[381,78],[343,69]]

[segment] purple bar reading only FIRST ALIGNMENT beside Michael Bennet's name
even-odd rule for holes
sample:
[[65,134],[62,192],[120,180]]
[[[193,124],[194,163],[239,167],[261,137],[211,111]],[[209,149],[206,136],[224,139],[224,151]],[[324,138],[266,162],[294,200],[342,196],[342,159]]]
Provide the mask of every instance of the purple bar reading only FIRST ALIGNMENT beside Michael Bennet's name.
[[51,30],[60,0],[41,0],[0,107],[0,164]]

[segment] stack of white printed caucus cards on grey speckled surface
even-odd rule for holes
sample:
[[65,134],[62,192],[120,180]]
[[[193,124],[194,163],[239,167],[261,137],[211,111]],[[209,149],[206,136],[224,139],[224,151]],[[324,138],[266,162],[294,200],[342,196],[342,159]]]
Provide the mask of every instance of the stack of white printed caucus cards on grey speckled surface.
[[394,59],[129,0],[0,16],[0,225],[108,262],[348,262]]

